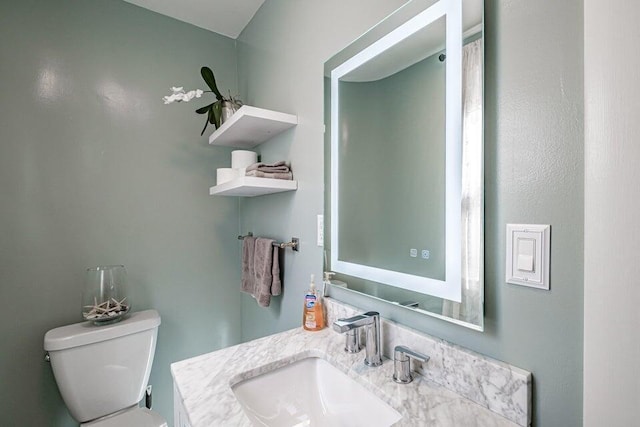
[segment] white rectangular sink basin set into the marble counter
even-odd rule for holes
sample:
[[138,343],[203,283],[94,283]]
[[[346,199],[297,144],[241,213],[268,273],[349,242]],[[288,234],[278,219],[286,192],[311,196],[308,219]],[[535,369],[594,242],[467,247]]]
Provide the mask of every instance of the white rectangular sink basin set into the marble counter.
[[255,426],[386,427],[402,418],[318,357],[299,360],[231,388]]

